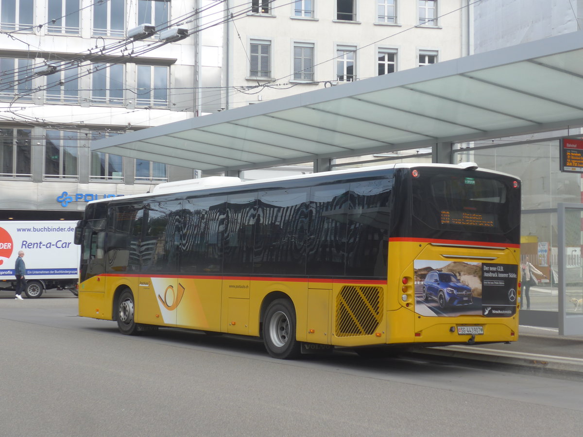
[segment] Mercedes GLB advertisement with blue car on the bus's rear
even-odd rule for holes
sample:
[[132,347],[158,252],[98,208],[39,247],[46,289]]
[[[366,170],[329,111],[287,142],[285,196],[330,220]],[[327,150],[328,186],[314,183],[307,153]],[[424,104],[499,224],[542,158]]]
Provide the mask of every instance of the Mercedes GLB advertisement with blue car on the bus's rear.
[[426,317],[516,313],[518,266],[415,260],[415,311]]

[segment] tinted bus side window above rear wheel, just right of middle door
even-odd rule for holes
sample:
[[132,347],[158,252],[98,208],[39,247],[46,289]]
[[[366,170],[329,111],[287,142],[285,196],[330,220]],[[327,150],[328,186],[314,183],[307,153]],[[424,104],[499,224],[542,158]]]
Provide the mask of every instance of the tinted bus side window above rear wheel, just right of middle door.
[[254,273],[305,274],[308,192],[299,188],[259,193]]

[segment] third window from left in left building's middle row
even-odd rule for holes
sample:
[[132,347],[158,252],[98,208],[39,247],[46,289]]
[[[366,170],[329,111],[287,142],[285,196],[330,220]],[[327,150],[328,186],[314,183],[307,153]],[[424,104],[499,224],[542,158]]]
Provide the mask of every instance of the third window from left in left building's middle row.
[[93,64],[91,100],[108,105],[124,104],[124,66]]

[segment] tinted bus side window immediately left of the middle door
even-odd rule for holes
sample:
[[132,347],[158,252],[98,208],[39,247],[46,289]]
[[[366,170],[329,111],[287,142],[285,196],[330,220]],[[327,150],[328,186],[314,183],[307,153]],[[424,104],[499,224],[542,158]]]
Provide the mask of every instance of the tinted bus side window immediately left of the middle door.
[[184,200],[180,271],[222,273],[226,196]]

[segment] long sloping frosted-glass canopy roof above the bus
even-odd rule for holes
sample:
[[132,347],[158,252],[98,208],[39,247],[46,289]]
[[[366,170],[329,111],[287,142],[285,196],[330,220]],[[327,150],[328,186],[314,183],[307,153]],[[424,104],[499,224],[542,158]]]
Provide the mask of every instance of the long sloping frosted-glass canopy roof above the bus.
[[92,149],[249,170],[583,125],[583,31],[97,140]]

